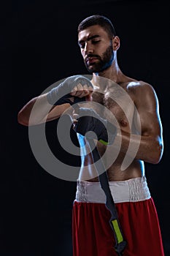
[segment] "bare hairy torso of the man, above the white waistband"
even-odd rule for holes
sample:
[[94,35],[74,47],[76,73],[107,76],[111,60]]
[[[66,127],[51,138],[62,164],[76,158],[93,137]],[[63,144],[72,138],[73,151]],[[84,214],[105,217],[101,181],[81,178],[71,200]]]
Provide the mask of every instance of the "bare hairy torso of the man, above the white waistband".
[[[101,86],[94,86],[93,102],[88,104],[92,104],[93,109],[102,118],[112,121],[121,130],[135,133],[134,116],[136,108],[134,106],[133,89],[131,90],[135,83],[139,82],[129,79],[127,82],[120,83],[119,85],[112,82],[103,86],[102,89]],[[99,103],[99,105],[96,105],[95,102]],[[85,139],[84,143],[85,148],[82,152],[82,166],[79,179],[95,182],[98,181],[98,176],[93,165],[89,145]],[[112,147],[104,146],[101,143],[97,143],[97,148],[101,156],[104,155],[104,163],[108,164],[107,175],[109,181],[124,181],[144,175],[144,164],[142,161],[138,159],[131,160],[131,163],[127,165],[125,170],[121,170],[125,153],[115,152],[112,150]],[[106,153],[104,154],[104,152]]]

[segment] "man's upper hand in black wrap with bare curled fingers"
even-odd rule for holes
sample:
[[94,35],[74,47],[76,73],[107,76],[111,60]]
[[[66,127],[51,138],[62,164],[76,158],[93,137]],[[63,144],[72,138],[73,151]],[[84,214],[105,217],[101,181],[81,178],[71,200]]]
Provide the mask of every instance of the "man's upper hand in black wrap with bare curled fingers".
[[69,103],[73,105],[78,102],[90,100],[93,93],[93,84],[82,75],[73,75],[63,83],[47,93],[47,101],[50,105],[62,105]]

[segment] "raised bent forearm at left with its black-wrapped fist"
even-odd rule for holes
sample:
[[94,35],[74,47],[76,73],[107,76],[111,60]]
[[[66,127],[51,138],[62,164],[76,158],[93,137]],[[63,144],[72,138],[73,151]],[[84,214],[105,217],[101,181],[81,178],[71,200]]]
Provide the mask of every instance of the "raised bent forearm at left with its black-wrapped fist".
[[93,85],[88,78],[73,75],[47,94],[31,99],[19,111],[18,122],[30,126],[56,119],[71,105],[90,98],[92,91]]

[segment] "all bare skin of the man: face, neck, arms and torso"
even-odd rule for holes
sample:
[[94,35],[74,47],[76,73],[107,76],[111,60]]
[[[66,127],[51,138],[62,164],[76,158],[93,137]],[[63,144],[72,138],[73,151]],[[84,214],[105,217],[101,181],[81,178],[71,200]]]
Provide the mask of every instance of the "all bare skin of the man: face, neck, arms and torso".
[[[102,54],[109,47],[110,39],[107,32],[98,25],[90,26],[79,33],[78,40],[85,64],[93,72],[91,82],[93,83],[94,91],[90,91],[87,86],[78,85],[72,91],[72,96],[86,97],[87,101],[100,103],[114,114],[117,121],[115,125],[117,125],[118,130],[114,143],[111,146],[97,143],[101,156],[109,147],[106,162],[114,157],[114,152],[119,148],[119,154],[113,162],[111,161],[112,165],[109,165],[107,168],[109,181],[124,181],[129,178],[144,176],[144,162],[157,164],[163,154],[161,118],[159,116],[158,98],[155,91],[150,84],[128,78],[121,72],[117,64],[117,50],[120,47],[119,37],[112,38],[112,48],[114,51],[112,64],[101,72],[96,71],[100,60],[97,57],[93,57],[93,55],[101,56],[102,58]],[[88,57],[90,54],[92,56]],[[107,78],[116,83],[117,86],[120,86],[120,89],[125,91],[125,94],[130,97],[133,104],[128,104],[129,102],[125,99],[119,105],[117,99],[121,98],[121,96],[117,96],[116,101],[110,99],[115,95],[113,83],[106,83],[104,86],[100,84],[100,77]],[[103,93],[101,94],[100,91]],[[34,116],[31,116],[29,120],[31,109],[35,102],[39,102],[37,104],[37,111],[34,111]],[[44,94],[31,99],[20,110],[18,122],[28,126],[50,121],[61,116],[69,107],[70,105],[66,103],[51,108],[47,102],[46,94]],[[98,111],[97,108],[94,108],[94,110]],[[72,112],[70,114],[76,122],[77,113]],[[100,114],[109,119],[107,111],[104,111],[104,113],[100,112]],[[130,151],[128,151],[129,143],[132,145]],[[88,143],[85,144],[84,154],[86,155],[82,157],[80,180],[98,181],[96,170],[92,165],[93,161]],[[125,154],[128,154],[129,159],[132,158],[132,160],[131,164],[125,170],[122,170]]]

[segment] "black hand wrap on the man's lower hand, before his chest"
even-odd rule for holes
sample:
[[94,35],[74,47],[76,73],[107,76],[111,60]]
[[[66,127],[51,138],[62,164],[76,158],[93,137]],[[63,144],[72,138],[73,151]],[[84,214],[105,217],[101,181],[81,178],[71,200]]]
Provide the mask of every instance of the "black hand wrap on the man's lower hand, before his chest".
[[[107,119],[101,118],[95,110],[91,108],[80,108],[80,118],[77,119],[77,123],[74,126],[75,132],[85,136],[87,132],[94,132],[97,136],[98,141],[108,145],[112,144],[117,134],[117,127],[114,124],[107,121]],[[88,138],[88,135],[86,135]],[[89,138],[95,139],[89,135]]]

